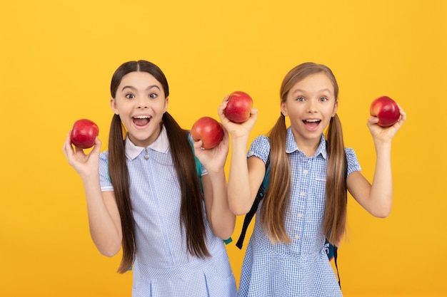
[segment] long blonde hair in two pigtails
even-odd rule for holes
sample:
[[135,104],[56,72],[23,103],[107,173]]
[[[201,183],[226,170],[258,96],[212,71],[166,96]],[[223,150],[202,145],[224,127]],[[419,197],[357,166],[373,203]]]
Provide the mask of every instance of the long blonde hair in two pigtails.
[[[316,63],[302,63],[291,69],[281,84],[281,102],[286,102],[293,85],[315,73],[325,73],[331,80],[336,100],[338,83],[331,69]],[[291,165],[286,154],[286,118],[281,114],[268,132],[270,141],[271,177],[261,206],[261,223],[272,242],[290,243],[286,234],[285,213],[290,203]],[[331,242],[338,241],[346,229],[347,161],[344,151],[343,132],[338,115],[334,115],[326,133],[328,167],[326,172],[326,207],[323,232]]]

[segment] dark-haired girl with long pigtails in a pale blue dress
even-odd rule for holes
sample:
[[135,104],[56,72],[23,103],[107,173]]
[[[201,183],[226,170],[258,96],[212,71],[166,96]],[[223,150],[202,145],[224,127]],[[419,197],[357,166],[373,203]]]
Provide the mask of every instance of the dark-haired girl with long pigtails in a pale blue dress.
[[[228,133],[201,150],[167,112],[169,86],[154,63],[122,64],[111,80],[109,150],[64,153],[84,182],[91,238],[101,254],[122,246],[132,296],[236,296],[223,239],[234,229],[224,165]],[[196,170],[201,162],[201,177]],[[202,189],[199,185],[201,179]],[[202,192],[203,191],[203,192]]]

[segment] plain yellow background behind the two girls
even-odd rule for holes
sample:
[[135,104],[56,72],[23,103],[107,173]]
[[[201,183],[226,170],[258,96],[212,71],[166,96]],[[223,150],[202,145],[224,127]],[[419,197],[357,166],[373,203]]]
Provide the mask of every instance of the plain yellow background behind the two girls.
[[[0,30],[0,296],[130,296],[131,273],[115,272],[121,254],[91,242],[61,147],[89,118],[106,149],[111,75],[137,59],[165,72],[169,111],[186,128],[218,118],[233,90],[251,94],[252,138],[278,118],[289,69],[328,65],[346,145],[370,180],[369,104],[397,100],[408,121],[393,140],[393,212],[373,218],[349,197],[343,293],[447,296],[447,1],[4,0]],[[238,218],[234,239],[240,228]],[[244,251],[233,242],[228,253],[238,281]]]

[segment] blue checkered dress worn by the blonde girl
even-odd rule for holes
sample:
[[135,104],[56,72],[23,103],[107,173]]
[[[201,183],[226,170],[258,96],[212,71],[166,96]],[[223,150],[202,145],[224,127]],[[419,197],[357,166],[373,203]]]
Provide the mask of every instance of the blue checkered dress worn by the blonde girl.
[[[266,162],[269,152],[268,138],[260,136],[253,140],[248,157],[256,156]],[[289,127],[286,152],[291,162],[291,202],[285,222],[292,243],[271,244],[256,219],[243,260],[238,296],[341,296],[324,248],[322,224],[328,164],[324,136],[321,135],[315,155],[306,157],[296,146]],[[360,170],[353,150],[345,152],[348,174]],[[257,217],[259,209],[261,206]]]

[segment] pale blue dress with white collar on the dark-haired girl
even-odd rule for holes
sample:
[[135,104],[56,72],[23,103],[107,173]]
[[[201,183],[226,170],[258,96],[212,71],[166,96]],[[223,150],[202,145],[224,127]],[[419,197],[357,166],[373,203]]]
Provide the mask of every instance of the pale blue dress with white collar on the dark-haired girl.
[[[181,193],[166,130],[147,148],[126,140],[130,194],[136,226],[133,297],[236,296],[224,241],[206,220],[207,259],[191,256],[180,224]],[[108,152],[101,153],[101,190],[112,191]],[[202,168],[204,170],[204,168]],[[206,170],[203,171],[206,174]],[[204,205],[205,209],[205,205]]]

